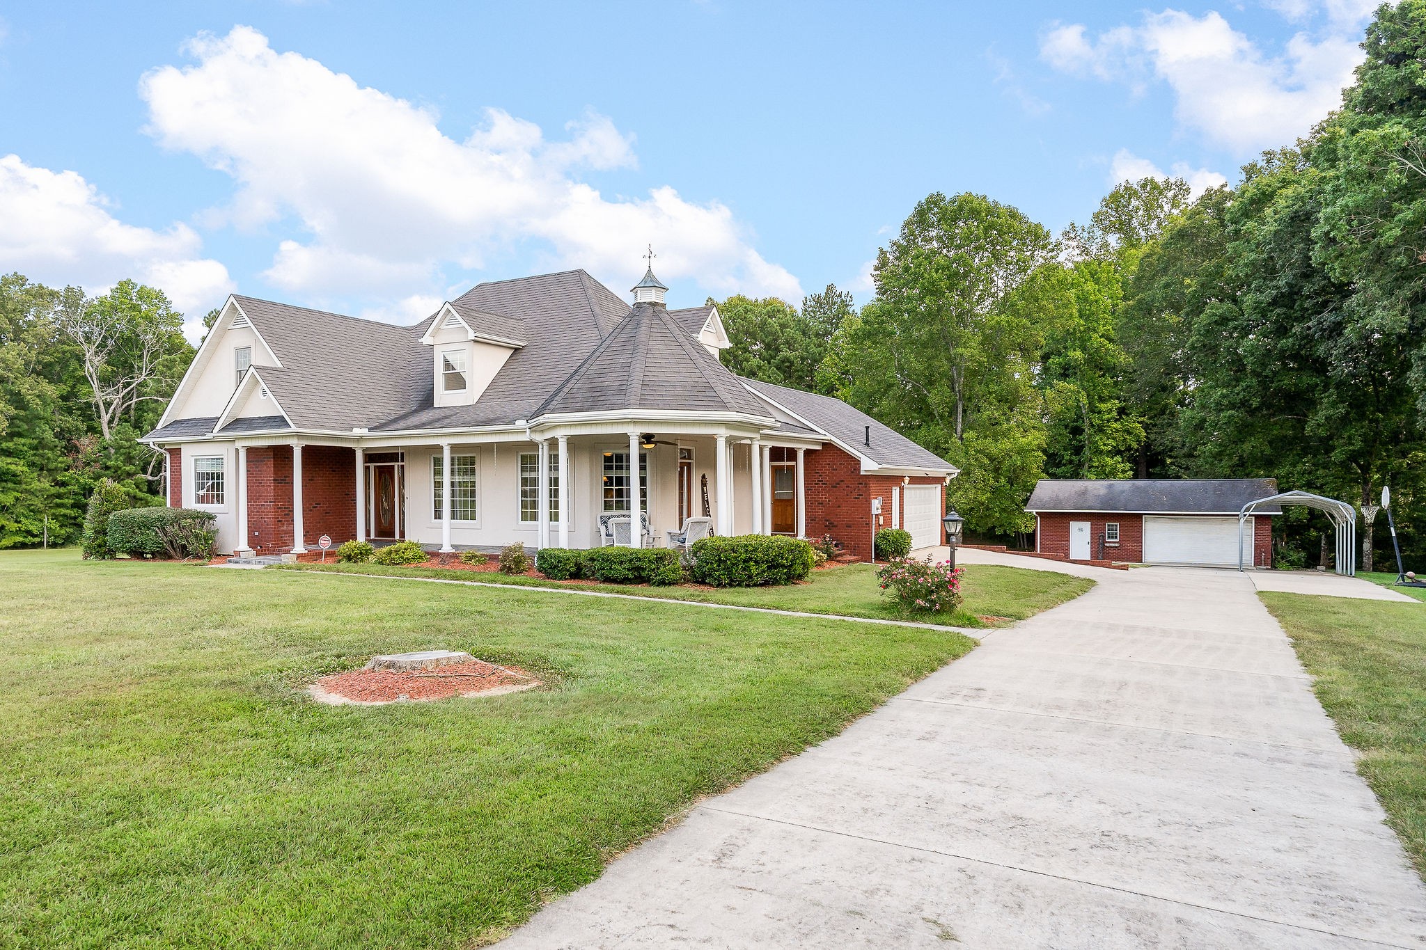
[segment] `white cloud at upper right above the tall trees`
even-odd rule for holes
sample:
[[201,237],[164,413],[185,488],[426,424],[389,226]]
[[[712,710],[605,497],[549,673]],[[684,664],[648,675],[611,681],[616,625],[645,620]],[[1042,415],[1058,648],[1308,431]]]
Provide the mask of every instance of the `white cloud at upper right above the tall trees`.
[[[1285,16],[1312,16],[1310,4],[1282,0]],[[1137,27],[1119,26],[1089,37],[1082,24],[1047,33],[1040,56],[1074,75],[1128,83],[1149,78],[1175,94],[1175,118],[1208,141],[1248,155],[1289,145],[1342,101],[1358,47],[1362,4],[1326,4],[1320,36],[1295,34],[1281,56],[1268,56],[1218,13],[1195,17],[1179,10],[1147,13]]]

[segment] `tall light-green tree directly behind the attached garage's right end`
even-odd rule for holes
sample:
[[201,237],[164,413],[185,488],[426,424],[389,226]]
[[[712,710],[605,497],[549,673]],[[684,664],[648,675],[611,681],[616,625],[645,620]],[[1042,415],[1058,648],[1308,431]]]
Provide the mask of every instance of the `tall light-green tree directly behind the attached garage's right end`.
[[984,195],[928,195],[877,254],[876,299],[843,326],[841,395],[961,469],[951,497],[977,531],[1030,524],[1044,429],[1032,370],[1047,301],[1044,226]]

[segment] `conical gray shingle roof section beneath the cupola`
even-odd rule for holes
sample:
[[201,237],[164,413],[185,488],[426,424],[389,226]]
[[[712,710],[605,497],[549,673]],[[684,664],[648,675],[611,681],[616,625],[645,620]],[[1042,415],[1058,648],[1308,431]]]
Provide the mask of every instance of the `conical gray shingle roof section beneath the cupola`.
[[770,414],[657,303],[636,305],[536,414],[619,409]]

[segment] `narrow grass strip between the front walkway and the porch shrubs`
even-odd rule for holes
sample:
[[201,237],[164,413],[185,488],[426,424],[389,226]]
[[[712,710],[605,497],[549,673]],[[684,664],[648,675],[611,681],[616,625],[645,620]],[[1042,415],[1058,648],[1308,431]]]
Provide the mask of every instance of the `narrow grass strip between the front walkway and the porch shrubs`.
[[[351,574],[386,574],[395,577],[439,577],[458,581],[488,581],[525,587],[562,587],[559,581],[532,577],[508,577],[498,573],[472,574],[446,568],[381,567],[376,564],[298,564],[284,570],[334,571]],[[619,584],[580,584],[580,590],[612,591],[659,597],[667,600],[702,601],[709,604],[737,604],[740,607],[770,607],[809,614],[843,617],[873,617],[878,620],[930,620],[948,627],[994,627],[981,617],[1025,620],[1057,604],[1074,600],[1094,587],[1094,581],[1054,571],[1031,571],[1020,567],[968,564],[961,581],[965,602],[954,614],[938,617],[907,615],[897,610],[891,598],[877,587],[876,568],[870,564],[848,564],[813,571],[804,584],[786,587],[626,587]]]

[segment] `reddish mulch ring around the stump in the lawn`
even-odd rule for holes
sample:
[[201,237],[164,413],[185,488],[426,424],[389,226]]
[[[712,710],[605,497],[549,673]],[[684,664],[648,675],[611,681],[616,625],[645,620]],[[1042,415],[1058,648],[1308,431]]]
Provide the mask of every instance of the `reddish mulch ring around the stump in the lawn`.
[[519,667],[476,659],[435,669],[354,669],[322,677],[308,687],[308,692],[328,705],[379,706],[451,696],[498,696],[538,685],[539,679]]

